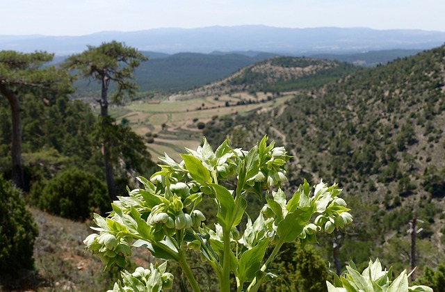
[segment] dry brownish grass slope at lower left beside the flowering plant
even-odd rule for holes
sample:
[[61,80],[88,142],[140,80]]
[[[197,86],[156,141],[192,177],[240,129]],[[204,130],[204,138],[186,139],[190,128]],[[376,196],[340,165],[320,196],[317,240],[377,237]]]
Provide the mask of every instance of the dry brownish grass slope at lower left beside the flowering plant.
[[[35,280],[26,291],[104,291],[112,289],[118,269],[104,272],[99,257],[85,251],[83,239],[93,222],[74,222],[31,208],[39,236],[34,245]],[[132,266],[147,266],[149,252],[133,249]],[[1,289],[0,289],[1,290]],[[23,291],[20,289],[19,291]]]

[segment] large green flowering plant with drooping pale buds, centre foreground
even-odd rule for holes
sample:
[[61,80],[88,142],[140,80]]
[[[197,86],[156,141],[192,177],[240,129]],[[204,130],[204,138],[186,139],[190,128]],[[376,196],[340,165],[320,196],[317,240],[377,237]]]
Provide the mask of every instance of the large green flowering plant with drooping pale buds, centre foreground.
[[[143,188],[119,197],[107,218],[95,215],[98,227],[92,229],[99,234],[86,238],[88,250],[107,265],[123,267],[131,248],[147,248],[158,259],[179,263],[193,291],[200,291],[184,256],[187,250],[197,250],[215,271],[220,291],[230,291],[230,273],[238,291],[257,291],[261,283],[278,276],[269,267],[284,243],[297,238],[303,246],[316,243],[318,232],[331,233],[353,220],[346,202],[338,197],[341,190],[336,184],[326,186],[321,181],[312,190],[304,181],[287,197],[281,185],[287,181],[284,165],[290,156],[284,147],[267,140],[264,136],[245,151],[232,148],[227,138],[213,151],[204,138],[202,147],[181,154],[180,163],[165,154],[160,158],[161,170],[149,180],[138,177]],[[228,180],[236,181],[234,187],[227,188],[232,185],[225,184]],[[254,222],[245,213],[249,193],[265,202]],[[204,196],[218,210],[214,226],[205,225],[206,218],[198,209]],[[243,216],[247,224],[240,234]],[[272,252],[266,257],[268,248]],[[158,275],[161,284],[156,289],[170,288],[172,277],[163,277],[164,273],[162,266],[161,271],[147,275]],[[135,283],[133,278],[142,283],[138,285],[149,282],[145,276],[144,282],[128,272],[124,275],[124,285]],[[115,284],[115,291],[119,289],[124,288]]]

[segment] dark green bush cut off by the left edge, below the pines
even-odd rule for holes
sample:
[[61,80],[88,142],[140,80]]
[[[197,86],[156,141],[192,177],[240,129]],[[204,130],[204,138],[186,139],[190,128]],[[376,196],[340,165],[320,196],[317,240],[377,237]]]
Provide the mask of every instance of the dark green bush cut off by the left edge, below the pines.
[[36,236],[38,229],[19,190],[0,177],[0,282],[33,269]]

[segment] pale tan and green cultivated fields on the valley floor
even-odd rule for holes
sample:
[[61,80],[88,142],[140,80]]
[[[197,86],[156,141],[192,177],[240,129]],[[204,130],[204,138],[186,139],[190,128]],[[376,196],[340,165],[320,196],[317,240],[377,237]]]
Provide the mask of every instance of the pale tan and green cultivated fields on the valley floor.
[[[267,111],[281,106],[293,98],[296,92],[284,92],[279,97],[271,93],[236,92],[220,97],[202,97],[185,101],[161,101],[159,103],[133,102],[127,106],[111,108],[111,115],[118,123],[129,120],[133,131],[140,136],[151,132],[156,134],[154,143],[147,143],[147,149],[154,161],[167,153],[175,160],[181,159],[184,147],[196,149],[202,141],[202,131],[197,129],[198,122],[209,122],[212,118],[227,115],[244,115],[251,111]],[[270,100],[269,100],[270,99]],[[236,105],[239,103],[248,103]],[[164,126],[164,127],[163,127]]]

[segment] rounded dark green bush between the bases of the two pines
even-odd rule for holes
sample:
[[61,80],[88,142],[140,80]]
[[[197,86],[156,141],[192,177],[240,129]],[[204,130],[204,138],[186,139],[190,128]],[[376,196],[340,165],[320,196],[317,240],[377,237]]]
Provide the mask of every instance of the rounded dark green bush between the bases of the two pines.
[[53,179],[31,188],[37,206],[48,213],[74,220],[110,209],[106,187],[94,175],[78,169],[59,172]]

